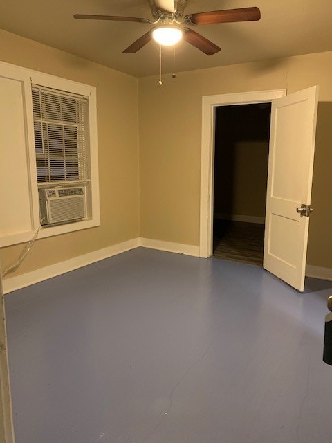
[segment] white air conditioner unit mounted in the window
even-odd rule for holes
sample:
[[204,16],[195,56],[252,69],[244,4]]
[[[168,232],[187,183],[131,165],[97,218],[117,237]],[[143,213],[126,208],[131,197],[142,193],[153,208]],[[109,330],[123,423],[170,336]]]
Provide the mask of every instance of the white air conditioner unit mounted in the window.
[[43,225],[66,223],[86,217],[85,189],[39,189],[40,215]]

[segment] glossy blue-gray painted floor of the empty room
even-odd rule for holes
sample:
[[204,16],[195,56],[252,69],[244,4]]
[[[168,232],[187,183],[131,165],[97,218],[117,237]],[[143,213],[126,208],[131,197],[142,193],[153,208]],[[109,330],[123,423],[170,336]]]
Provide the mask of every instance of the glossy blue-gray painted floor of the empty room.
[[8,294],[17,443],[331,443],[331,292],[139,248]]

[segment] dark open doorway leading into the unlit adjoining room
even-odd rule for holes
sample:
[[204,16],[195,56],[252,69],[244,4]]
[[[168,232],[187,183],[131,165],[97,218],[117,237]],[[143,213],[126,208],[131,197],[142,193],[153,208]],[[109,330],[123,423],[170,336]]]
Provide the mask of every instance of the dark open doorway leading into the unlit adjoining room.
[[271,103],[215,110],[213,257],[263,265]]

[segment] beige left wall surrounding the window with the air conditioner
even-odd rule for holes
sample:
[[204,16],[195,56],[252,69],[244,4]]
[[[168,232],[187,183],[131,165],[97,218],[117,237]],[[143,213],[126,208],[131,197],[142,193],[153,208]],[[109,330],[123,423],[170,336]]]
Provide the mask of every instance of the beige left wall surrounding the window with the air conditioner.
[[[97,88],[102,224],[38,240],[16,275],[138,237],[138,80],[3,30],[0,60]],[[3,269],[21,249],[1,249]]]

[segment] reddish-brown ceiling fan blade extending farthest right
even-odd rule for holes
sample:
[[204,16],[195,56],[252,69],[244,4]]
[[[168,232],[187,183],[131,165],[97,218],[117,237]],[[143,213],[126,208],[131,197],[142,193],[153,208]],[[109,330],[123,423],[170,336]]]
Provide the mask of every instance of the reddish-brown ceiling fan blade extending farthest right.
[[186,15],[186,23],[193,25],[209,25],[216,23],[232,23],[234,21],[255,21],[261,18],[257,7],[227,9],[222,11],[197,12]]

